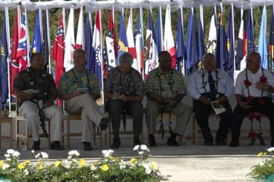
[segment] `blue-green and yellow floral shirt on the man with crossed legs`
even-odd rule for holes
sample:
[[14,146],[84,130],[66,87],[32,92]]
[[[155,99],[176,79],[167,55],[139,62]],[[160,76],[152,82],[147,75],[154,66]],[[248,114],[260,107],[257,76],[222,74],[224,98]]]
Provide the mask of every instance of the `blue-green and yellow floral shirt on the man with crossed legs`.
[[98,78],[88,70],[79,72],[72,68],[60,78],[58,95],[75,92],[78,88],[88,88],[90,94],[100,95]]

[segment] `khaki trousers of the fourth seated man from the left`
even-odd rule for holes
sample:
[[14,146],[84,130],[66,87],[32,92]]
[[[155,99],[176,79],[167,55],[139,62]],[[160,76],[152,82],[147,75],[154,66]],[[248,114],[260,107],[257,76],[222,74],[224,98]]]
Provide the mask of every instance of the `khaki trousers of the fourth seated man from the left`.
[[[154,134],[157,117],[160,113],[160,105],[154,100],[147,101],[147,108],[145,109],[146,121],[147,121],[147,132],[148,134]],[[184,135],[186,126],[191,119],[192,109],[191,107],[184,105],[179,102],[173,109],[172,114],[176,116],[175,124],[172,124],[172,132],[180,135]]]

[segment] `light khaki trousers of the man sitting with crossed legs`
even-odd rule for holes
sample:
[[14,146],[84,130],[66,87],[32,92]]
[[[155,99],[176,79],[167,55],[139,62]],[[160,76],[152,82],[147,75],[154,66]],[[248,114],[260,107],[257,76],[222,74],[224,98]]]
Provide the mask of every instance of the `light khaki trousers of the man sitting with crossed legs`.
[[81,114],[81,119],[83,121],[82,129],[82,142],[91,141],[91,132],[93,123],[99,126],[102,114],[98,109],[98,105],[88,94],[79,95],[66,100],[65,109],[68,114]]

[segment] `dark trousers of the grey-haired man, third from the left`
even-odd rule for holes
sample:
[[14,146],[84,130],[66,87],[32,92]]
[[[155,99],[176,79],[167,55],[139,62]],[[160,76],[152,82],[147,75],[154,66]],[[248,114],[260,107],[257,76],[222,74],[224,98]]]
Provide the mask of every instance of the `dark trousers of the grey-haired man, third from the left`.
[[107,112],[110,114],[111,117],[113,117],[112,130],[115,135],[119,134],[121,114],[123,110],[126,110],[127,114],[130,114],[132,116],[134,136],[139,137],[139,134],[142,129],[142,122],[143,122],[144,109],[143,109],[142,102],[137,102],[137,101],[122,102],[121,100],[107,101]]

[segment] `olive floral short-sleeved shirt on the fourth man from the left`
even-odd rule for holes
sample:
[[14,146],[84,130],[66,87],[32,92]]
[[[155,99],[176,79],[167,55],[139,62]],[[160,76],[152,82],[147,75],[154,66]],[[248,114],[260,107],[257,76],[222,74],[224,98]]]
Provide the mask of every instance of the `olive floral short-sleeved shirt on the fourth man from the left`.
[[147,92],[161,95],[167,100],[174,99],[176,95],[186,95],[184,78],[179,71],[172,69],[169,74],[162,73],[160,68],[149,72],[146,81]]

